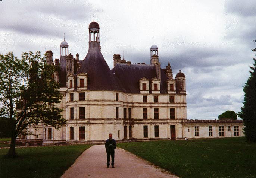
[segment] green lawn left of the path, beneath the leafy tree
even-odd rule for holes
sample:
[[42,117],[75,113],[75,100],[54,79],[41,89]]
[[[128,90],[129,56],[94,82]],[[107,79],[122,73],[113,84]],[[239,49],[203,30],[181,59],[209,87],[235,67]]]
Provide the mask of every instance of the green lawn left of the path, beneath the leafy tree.
[[[16,148],[18,158],[0,149],[1,178],[59,178],[90,145]],[[85,168],[86,169],[86,168]]]

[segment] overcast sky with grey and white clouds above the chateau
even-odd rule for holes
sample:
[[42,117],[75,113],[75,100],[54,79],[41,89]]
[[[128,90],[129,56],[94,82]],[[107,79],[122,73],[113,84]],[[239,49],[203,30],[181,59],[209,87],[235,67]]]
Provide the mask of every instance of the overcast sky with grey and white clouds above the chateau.
[[[113,54],[132,63],[150,63],[155,41],[159,61],[181,70],[187,84],[187,118],[215,119],[240,112],[243,86],[255,54],[255,0],[215,1],[0,1],[0,53],[53,51],[60,43],[79,59],[88,51],[88,25],[100,25],[102,54],[113,68]],[[154,39],[153,39],[154,36]]]

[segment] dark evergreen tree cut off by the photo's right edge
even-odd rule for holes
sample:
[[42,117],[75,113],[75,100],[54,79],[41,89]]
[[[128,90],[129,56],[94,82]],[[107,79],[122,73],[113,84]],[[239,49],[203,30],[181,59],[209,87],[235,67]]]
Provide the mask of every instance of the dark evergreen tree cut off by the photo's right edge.
[[[256,42],[256,39],[253,40]],[[252,51],[256,51],[256,48]],[[244,134],[249,141],[256,142],[256,58],[253,58],[253,67],[249,66],[250,76],[243,87],[244,102],[238,116],[244,121]]]

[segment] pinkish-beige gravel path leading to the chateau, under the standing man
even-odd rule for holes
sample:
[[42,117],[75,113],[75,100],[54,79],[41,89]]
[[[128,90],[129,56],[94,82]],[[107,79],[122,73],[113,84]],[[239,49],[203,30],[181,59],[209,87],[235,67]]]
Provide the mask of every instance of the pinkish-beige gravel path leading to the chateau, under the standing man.
[[121,148],[115,150],[115,168],[106,169],[106,162],[105,146],[91,146],[61,178],[178,178]]

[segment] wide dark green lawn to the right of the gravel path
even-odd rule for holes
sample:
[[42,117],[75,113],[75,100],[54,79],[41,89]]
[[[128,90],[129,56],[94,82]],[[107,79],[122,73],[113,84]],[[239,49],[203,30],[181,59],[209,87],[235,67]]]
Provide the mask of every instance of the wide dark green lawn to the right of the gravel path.
[[118,143],[182,178],[255,178],[256,143],[245,137]]

